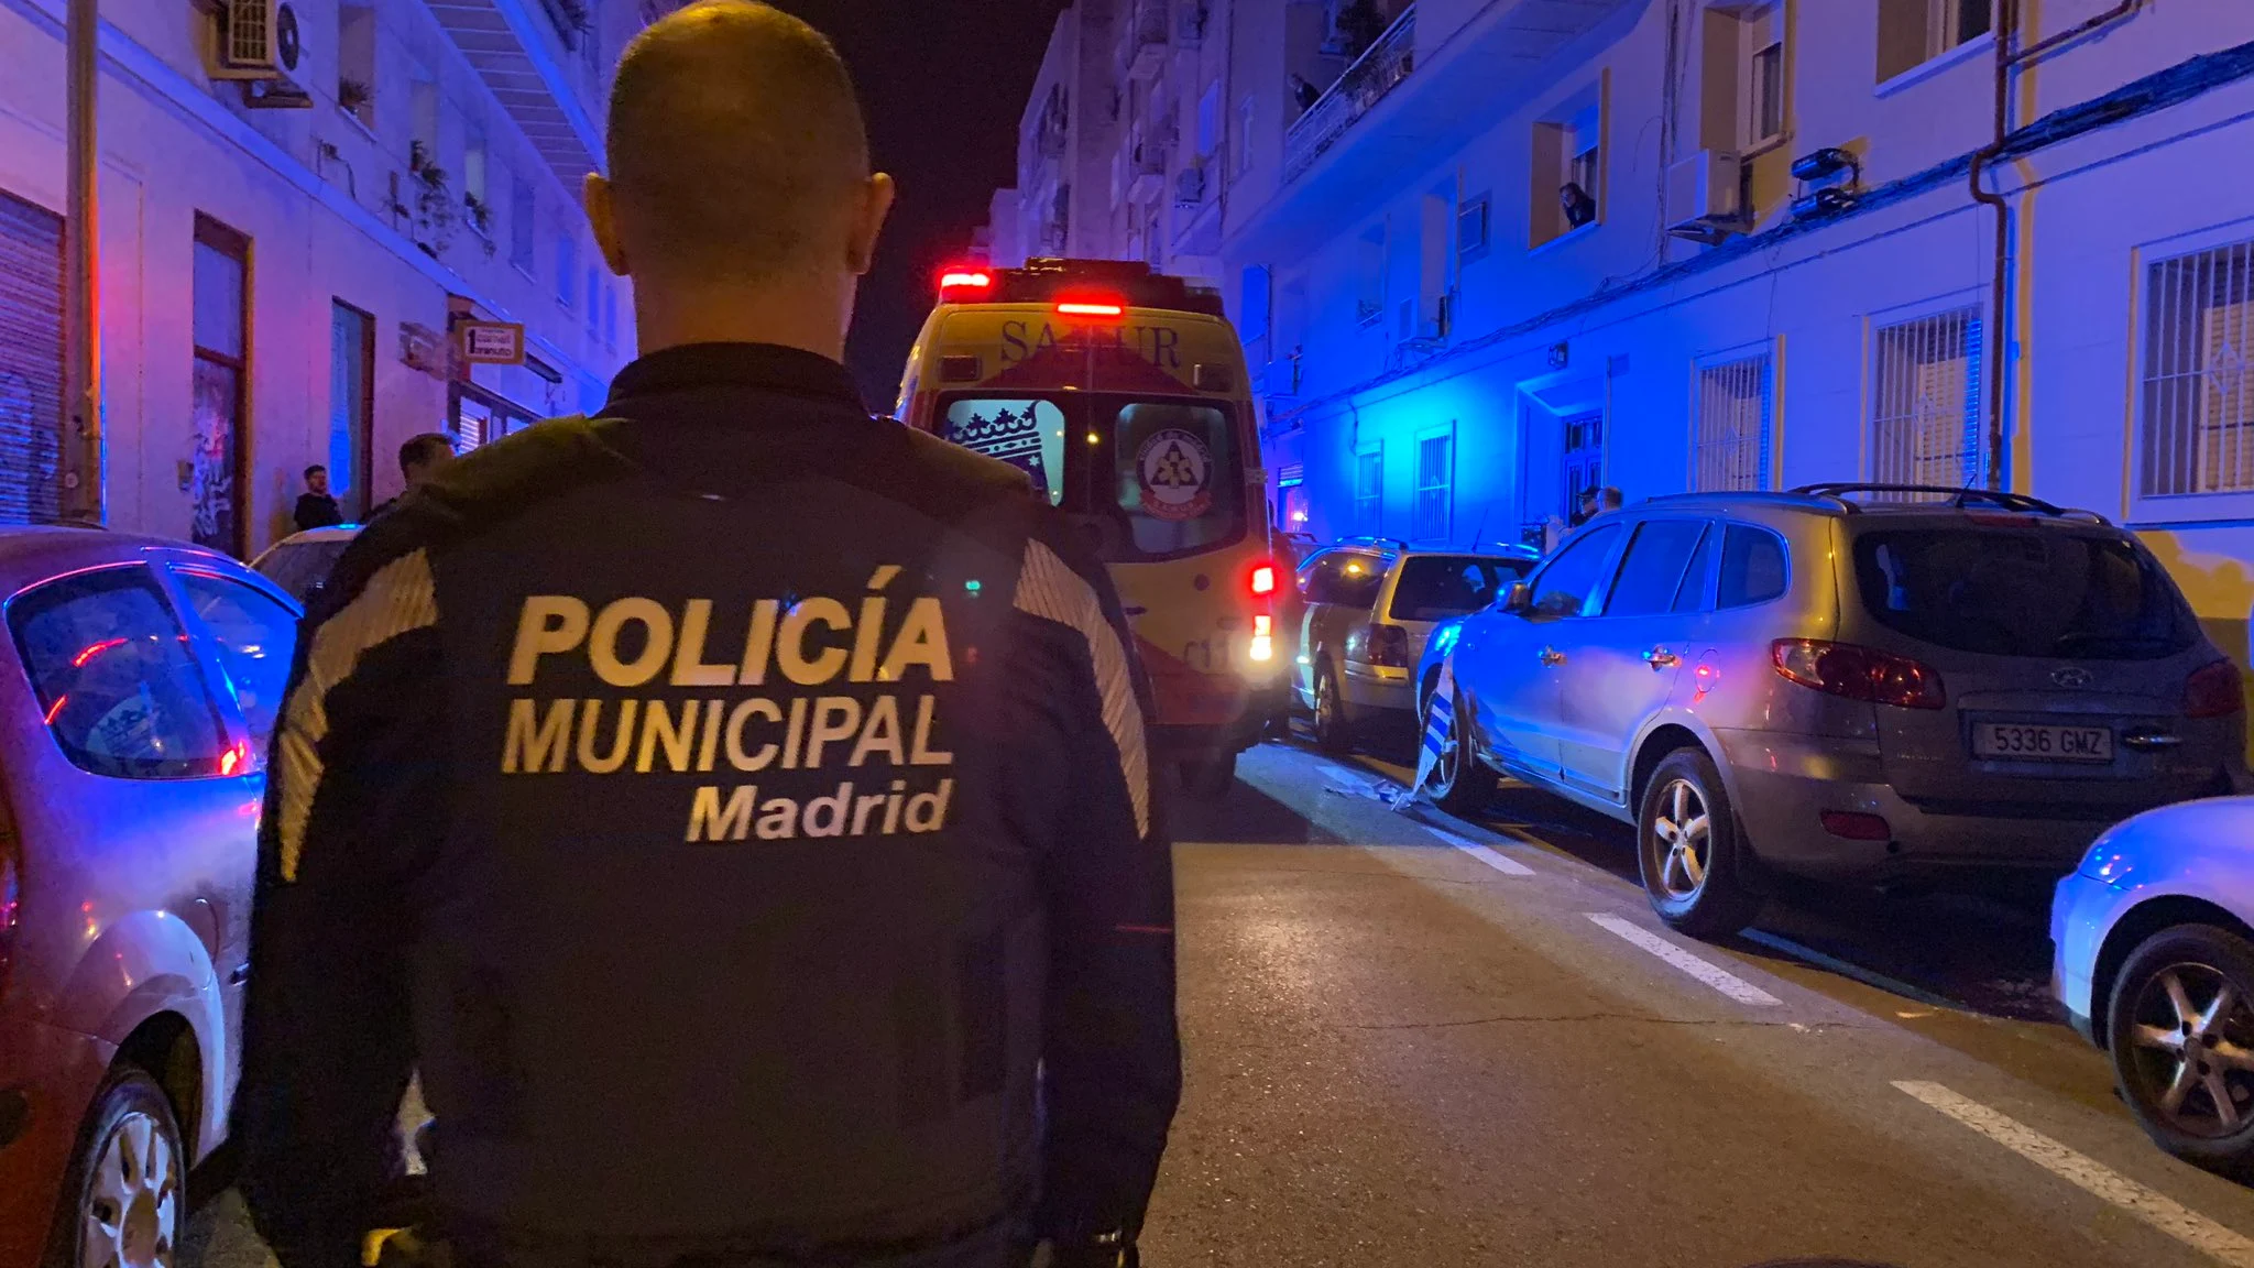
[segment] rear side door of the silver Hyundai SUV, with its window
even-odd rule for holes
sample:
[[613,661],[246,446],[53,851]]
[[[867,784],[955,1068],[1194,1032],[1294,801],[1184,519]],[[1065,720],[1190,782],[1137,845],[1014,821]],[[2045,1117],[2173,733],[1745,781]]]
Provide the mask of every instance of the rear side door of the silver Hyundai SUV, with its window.
[[[1666,708],[1686,652],[1686,623],[1704,598],[1711,528],[1695,517],[1632,526],[1621,569],[1558,666],[1558,763],[1567,785],[1625,805],[1630,745]],[[1697,575],[1697,584],[1690,582]]]

